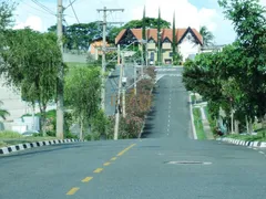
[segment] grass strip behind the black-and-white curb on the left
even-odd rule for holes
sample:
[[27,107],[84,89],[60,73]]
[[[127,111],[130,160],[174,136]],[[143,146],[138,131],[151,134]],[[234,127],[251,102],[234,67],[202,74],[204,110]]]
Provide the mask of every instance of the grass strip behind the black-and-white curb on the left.
[[23,137],[21,134],[16,132],[0,132],[0,147],[52,139],[55,139],[55,137]]

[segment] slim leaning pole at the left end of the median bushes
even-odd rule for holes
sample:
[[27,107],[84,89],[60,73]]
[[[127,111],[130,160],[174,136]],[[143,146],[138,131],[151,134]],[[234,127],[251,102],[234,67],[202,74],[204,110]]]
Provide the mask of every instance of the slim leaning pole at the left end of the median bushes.
[[117,104],[116,104],[116,111],[115,111],[115,125],[114,125],[114,140],[117,140],[119,138],[119,125],[120,125],[120,94],[122,88],[122,77],[123,77],[123,67],[124,67],[124,55],[122,54],[122,64],[120,64],[120,81],[119,81],[119,93],[117,93]]

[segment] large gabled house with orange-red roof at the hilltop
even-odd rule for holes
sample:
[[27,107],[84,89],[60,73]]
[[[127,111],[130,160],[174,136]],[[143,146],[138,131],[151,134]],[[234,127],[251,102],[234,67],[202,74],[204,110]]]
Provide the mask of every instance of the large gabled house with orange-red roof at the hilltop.
[[[173,30],[162,29],[160,32],[160,42],[157,41],[157,29],[146,30],[146,50],[147,60],[152,62],[157,61],[158,44],[161,45],[161,60],[163,63],[173,62]],[[203,46],[203,36],[196,29],[176,29],[176,51],[183,56],[185,61],[190,55],[197,54],[201,52]],[[129,45],[131,43],[139,43],[140,49],[142,49],[140,41],[142,40],[142,29],[124,29],[115,38],[115,44]]]

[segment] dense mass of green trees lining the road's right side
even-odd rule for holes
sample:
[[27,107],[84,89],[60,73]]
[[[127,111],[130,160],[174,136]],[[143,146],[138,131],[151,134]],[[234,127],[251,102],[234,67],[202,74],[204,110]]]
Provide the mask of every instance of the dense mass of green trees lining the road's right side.
[[[245,132],[252,135],[255,122],[260,123],[265,132],[266,10],[257,0],[218,2],[232,21],[237,39],[222,52],[202,53],[194,61],[187,60],[183,82],[186,90],[198,93],[207,102],[214,134],[218,119],[226,124],[227,134]],[[224,116],[219,115],[221,109]],[[264,139],[265,134],[257,137]]]

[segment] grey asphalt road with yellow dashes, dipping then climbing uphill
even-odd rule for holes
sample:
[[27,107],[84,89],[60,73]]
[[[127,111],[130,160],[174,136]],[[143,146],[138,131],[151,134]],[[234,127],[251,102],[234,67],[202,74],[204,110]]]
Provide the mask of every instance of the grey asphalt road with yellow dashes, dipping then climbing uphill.
[[181,77],[165,75],[157,85],[143,138],[51,146],[0,157],[0,198],[265,198],[265,155],[191,139]]

